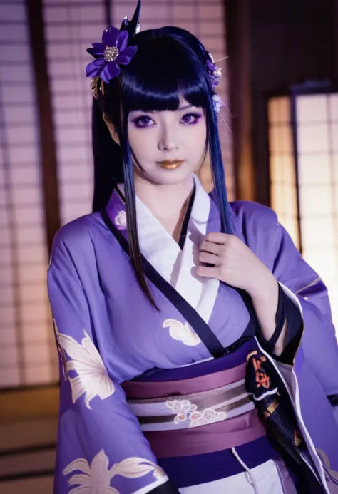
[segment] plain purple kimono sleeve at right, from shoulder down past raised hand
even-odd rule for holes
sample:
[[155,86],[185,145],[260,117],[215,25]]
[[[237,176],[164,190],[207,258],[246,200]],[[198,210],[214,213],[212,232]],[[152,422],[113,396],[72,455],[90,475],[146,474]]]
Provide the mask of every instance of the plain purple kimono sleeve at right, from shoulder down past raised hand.
[[232,210],[237,235],[272,271],[302,312],[304,359],[334,405],[338,393],[338,346],[327,287],[299,254],[270,207],[236,201]]

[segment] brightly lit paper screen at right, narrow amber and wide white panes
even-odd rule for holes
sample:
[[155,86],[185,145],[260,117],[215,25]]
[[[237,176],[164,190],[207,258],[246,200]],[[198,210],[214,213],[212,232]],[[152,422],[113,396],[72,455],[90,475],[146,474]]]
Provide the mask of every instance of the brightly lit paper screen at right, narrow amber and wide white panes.
[[268,103],[272,207],[327,284],[338,330],[338,94],[294,98],[295,141],[291,99]]

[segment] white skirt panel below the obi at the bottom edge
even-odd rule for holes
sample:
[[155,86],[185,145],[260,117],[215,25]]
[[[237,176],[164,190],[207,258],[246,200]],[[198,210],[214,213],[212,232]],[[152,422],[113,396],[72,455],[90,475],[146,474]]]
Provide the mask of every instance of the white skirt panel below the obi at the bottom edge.
[[[273,460],[250,470],[255,478],[257,490],[253,487],[247,472],[215,480],[200,485],[191,485],[179,489],[181,494],[296,494],[296,490],[285,490],[280,473]],[[288,475],[288,474],[287,474]],[[283,482],[284,483],[284,482]]]

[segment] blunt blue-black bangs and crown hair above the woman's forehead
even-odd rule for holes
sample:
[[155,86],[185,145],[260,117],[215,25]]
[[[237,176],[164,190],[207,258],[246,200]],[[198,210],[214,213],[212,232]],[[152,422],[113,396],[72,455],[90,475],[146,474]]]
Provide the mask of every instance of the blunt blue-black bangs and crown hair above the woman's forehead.
[[195,53],[161,30],[135,36],[138,51],[123,68],[121,97],[125,111],[175,111],[184,98],[193,106],[207,108],[206,71]]

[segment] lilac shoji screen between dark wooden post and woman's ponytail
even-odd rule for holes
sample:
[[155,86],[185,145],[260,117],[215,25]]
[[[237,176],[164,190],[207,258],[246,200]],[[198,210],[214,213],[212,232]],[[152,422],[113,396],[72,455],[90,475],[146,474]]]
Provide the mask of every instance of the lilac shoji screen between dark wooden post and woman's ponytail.
[[91,212],[91,89],[86,48],[106,26],[103,0],[44,0],[61,222]]

